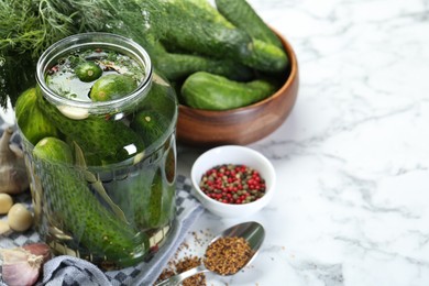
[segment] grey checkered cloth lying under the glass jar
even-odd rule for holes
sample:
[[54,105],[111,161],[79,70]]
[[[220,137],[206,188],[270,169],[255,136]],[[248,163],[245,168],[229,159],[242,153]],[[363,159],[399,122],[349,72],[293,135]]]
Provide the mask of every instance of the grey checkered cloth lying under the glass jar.
[[[3,122],[0,117],[0,134]],[[19,142],[19,138],[13,141]],[[37,285],[47,286],[74,286],[74,285],[152,285],[174,255],[178,245],[184,241],[190,227],[202,213],[202,206],[190,193],[190,180],[185,176],[177,177],[176,191],[176,220],[170,235],[165,244],[148,262],[142,262],[135,266],[120,271],[103,273],[96,265],[80,258],[62,255],[56,256],[45,263],[43,268],[43,280]],[[20,195],[16,201],[23,202],[31,208],[31,197],[29,194]],[[26,232],[13,232],[9,237],[0,237],[0,248],[9,249],[29,243],[40,242],[38,234],[33,230]],[[0,280],[0,285],[6,285]]]

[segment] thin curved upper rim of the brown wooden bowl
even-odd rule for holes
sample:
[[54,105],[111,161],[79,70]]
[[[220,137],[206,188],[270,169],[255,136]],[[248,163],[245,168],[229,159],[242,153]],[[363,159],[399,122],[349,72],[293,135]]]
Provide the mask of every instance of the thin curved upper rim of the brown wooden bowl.
[[283,45],[285,46],[286,54],[288,55],[289,61],[290,61],[290,73],[289,73],[289,75],[287,77],[287,80],[285,81],[285,84],[276,92],[274,92],[272,96],[270,96],[270,97],[267,97],[267,98],[265,98],[263,100],[260,100],[260,101],[257,101],[255,103],[252,103],[250,106],[245,106],[245,107],[241,107],[241,108],[234,108],[234,109],[230,109],[230,110],[198,109],[198,108],[187,107],[187,106],[180,105],[180,103],[178,105],[179,109],[189,110],[189,111],[195,112],[195,113],[205,113],[205,114],[208,114],[208,116],[216,116],[216,114],[223,114],[223,116],[226,116],[226,114],[230,114],[230,113],[239,113],[239,112],[244,111],[244,110],[250,110],[250,109],[253,109],[253,108],[257,108],[258,106],[265,105],[266,102],[268,102],[271,100],[274,100],[275,98],[282,96],[285,92],[285,90],[288,89],[289,86],[293,85],[294,80],[297,77],[298,61],[297,61],[297,57],[296,57],[294,48],[292,47],[289,42],[286,40],[286,37],[284,37],[282,34],[279,34],[276,30],[274,30],[274,29],[272,29],[272,30],[280,38]]

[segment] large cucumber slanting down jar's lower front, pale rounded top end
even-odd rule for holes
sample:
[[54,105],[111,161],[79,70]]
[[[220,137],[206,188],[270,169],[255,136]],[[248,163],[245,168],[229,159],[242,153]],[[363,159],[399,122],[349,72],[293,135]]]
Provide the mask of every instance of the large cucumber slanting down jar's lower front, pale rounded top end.
[[148,239],[114,217],[91,194],[85,179],[85,170],[70,167],[73,155],[70,147],[55,138],[41,140],[34,147],[33,155],[45,188],[45,200],[64,230],[85,245],[91,253],[106,255],[120,265],[128,265],[134,257],[135,245],[148,249]]

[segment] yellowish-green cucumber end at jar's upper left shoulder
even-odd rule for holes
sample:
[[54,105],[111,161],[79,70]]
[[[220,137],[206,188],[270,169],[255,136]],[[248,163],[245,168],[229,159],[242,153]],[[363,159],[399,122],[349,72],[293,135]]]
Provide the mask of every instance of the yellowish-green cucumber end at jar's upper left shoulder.
[[30,88],[18,97],[15,103],[18,127],[33,145],[46,136],[61,136],[58,129],[42,113],[36,100],[35,88]]

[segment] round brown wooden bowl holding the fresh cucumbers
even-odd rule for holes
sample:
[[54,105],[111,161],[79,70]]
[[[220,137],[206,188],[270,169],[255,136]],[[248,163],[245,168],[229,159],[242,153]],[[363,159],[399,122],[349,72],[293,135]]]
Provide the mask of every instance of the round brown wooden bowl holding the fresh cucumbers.
[[177,140],[195,146],[245,145],[275,131],[290,113],[298,94],[298,63],[290,44],[277,33],[289,57],[285,84],[271,97],[248,107],[211,111],[179,105]]

